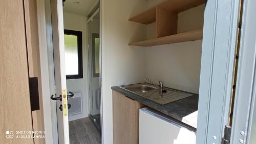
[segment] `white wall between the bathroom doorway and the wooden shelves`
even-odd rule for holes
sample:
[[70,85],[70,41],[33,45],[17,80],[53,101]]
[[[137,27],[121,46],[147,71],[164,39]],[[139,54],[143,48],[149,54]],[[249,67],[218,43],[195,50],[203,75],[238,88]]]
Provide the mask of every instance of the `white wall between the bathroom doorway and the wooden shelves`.
[[143,81],[145,48],[129,46],[134,38],[145,38],[142,24],[128,21],[146,1],[102,0],[102,107],[103,141],[113,143],[111,86]]

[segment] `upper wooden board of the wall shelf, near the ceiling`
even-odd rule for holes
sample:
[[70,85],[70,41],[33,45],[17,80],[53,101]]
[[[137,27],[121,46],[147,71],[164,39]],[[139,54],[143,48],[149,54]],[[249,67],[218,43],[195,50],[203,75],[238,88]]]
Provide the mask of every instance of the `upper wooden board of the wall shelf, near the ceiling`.
[[146,11],[131,17],[129,20],[147,25],[156,21],[157,7],[164,8],[170,12],[179,13],[204,3],[205,0],[166,0],[154,6],[153,8],[147,9]]

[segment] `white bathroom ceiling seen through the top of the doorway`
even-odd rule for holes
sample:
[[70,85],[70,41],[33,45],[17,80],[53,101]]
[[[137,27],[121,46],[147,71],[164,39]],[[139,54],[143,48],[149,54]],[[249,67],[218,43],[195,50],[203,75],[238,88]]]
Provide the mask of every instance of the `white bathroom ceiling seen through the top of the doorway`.
[[[74,1],[79,4],[73,4]],[[87,16],[97,2],[98,0],[66,0],[66,2],[64,2],[63,11]]]

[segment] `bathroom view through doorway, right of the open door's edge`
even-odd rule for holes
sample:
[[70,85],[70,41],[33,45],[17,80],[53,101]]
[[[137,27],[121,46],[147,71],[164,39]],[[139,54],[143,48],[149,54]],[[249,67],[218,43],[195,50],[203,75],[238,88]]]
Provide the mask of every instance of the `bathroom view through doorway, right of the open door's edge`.
[[63,26],[70,143],[100,143],[99,2],[65,1]]

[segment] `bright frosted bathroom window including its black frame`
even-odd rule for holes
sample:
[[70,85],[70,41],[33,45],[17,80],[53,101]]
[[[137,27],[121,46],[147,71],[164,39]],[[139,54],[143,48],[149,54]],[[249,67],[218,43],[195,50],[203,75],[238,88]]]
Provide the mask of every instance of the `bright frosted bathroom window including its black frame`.
[[82,32],[64,30],[67,79],[82,78]]

